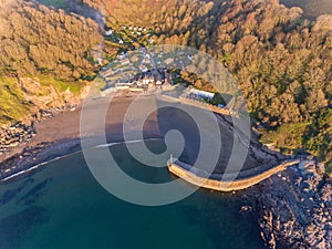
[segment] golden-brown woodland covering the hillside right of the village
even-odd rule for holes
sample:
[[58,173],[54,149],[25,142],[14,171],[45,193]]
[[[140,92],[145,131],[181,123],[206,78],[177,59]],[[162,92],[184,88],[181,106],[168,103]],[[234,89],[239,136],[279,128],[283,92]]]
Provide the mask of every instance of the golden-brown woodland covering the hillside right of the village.
[[[125,11],[129,2],[144,11]],[[332,15],[309,20],[298,7],[261,0],[147,6],[120,2],[108,23],[139,20],[136,24],[153,29],[158,44],[188,45],[217,58],[238,80],[251,116],[263,126],[261,141],[284,152],[310,152],[331,173]],[[196,75],[185,76],[210,90]]]

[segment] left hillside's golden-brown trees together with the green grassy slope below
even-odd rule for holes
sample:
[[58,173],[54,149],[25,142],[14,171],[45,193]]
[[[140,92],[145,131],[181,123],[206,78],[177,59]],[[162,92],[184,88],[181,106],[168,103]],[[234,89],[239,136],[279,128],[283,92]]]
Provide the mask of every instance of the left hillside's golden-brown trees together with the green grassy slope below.
[[66,90],[79,94],[82,84],[97,73],[95,56],[103,38],[91,19],[37,2],[6,0],[1,4],[0,122],[7,123],[38,107],[32,100],[54,92],[61,105]]

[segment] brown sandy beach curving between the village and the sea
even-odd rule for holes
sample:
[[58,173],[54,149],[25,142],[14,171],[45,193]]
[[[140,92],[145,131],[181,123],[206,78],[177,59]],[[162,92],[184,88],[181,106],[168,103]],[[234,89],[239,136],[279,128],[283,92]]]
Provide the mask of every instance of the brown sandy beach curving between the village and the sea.
[[[200,136],[207,136],[208,139],[214,139],[214,134],[210,134],[209,128],[199,131],[195,121],[181,111],[184,104],[172,102],[159,95],[141,95],[129,91],[118,91],[112,96],[112,102],[108,103],[108,97],[94,97],[89,101],[89,105],[84,106],[85,112],[93,114],[102,105],[108,105],[105,116],[105,134],[107,143],[116,143],[125,141],[124,137],[124,121],[126,127],[129,127],[129,139],[137,139],[137,135],[143,133],[144,138],[163,138],[168,131],[176,129],[180,132],[185,138],[185,149],[181,159],[188,164],[194,164],[197,159],[197,154],[200,148]],[[134,104],[133,104],[134,103]],[[132,116],[126,116],[131,105],[136,106]],[[81,149],[80,136],[95,136],[101,131],[87,131],[86,134],[80,134],[80,118],[83,104],[75,110],[70,110],[55,115],[53,118],[35,124],[37,135],[28,145],[20,145],[10,153],[0,156],[1,176],[7,178],[18,172],[25,170],[45,160],[53,159]],[[153,112],[145,118],[146,110],[154,106],[156,112]],[[167,107],[163,107],[167,106]],[[198,108],[194,106],[185,106],[185,108]],[[228,165],[229,157],[232,153],[234,131],[231,118],[216,114],[221,134],[221,153],[217,160],[217,167],[214,174],[222,174]],[[94,116],[91,116],[94,120]],[[138,125],[144,123],[143,128]],[[207,122],[208,123],[208,122]],[[143,131],[142,131],[143,129]],[[199,136],[200,135],[200,136]],[[128,139],[128,137],[126,137]],[[210,145],[206,145],[207,147]],[[211,145],[212,146],[212,145]],[[250,169],[250,174],[258,174],[280,164],[284,156],[268,151],[255,135],[251,136],[251,144],[248,155],[245,159],[242,172]],[[198,165],[203,170],[209,165]]]

